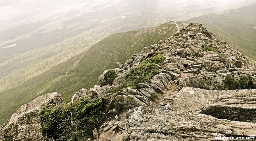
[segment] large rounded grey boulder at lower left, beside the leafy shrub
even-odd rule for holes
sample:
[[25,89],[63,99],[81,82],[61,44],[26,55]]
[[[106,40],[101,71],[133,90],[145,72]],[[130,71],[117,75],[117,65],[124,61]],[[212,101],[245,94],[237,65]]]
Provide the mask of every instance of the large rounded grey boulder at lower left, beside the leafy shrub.
[[1,136],[6,141],[44,141],[38,113],[48,104],[63,104],[63,96],[48,93],[24,104],[1,126]]

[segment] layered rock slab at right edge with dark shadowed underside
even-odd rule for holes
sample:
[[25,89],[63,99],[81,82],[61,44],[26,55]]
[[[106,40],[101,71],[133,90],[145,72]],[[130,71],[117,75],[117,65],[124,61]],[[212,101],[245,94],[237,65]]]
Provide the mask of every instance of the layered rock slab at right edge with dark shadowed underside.
[[207,104],[201,113],[233,121],[250,122],[256,118],[256,89],[236,90]]

